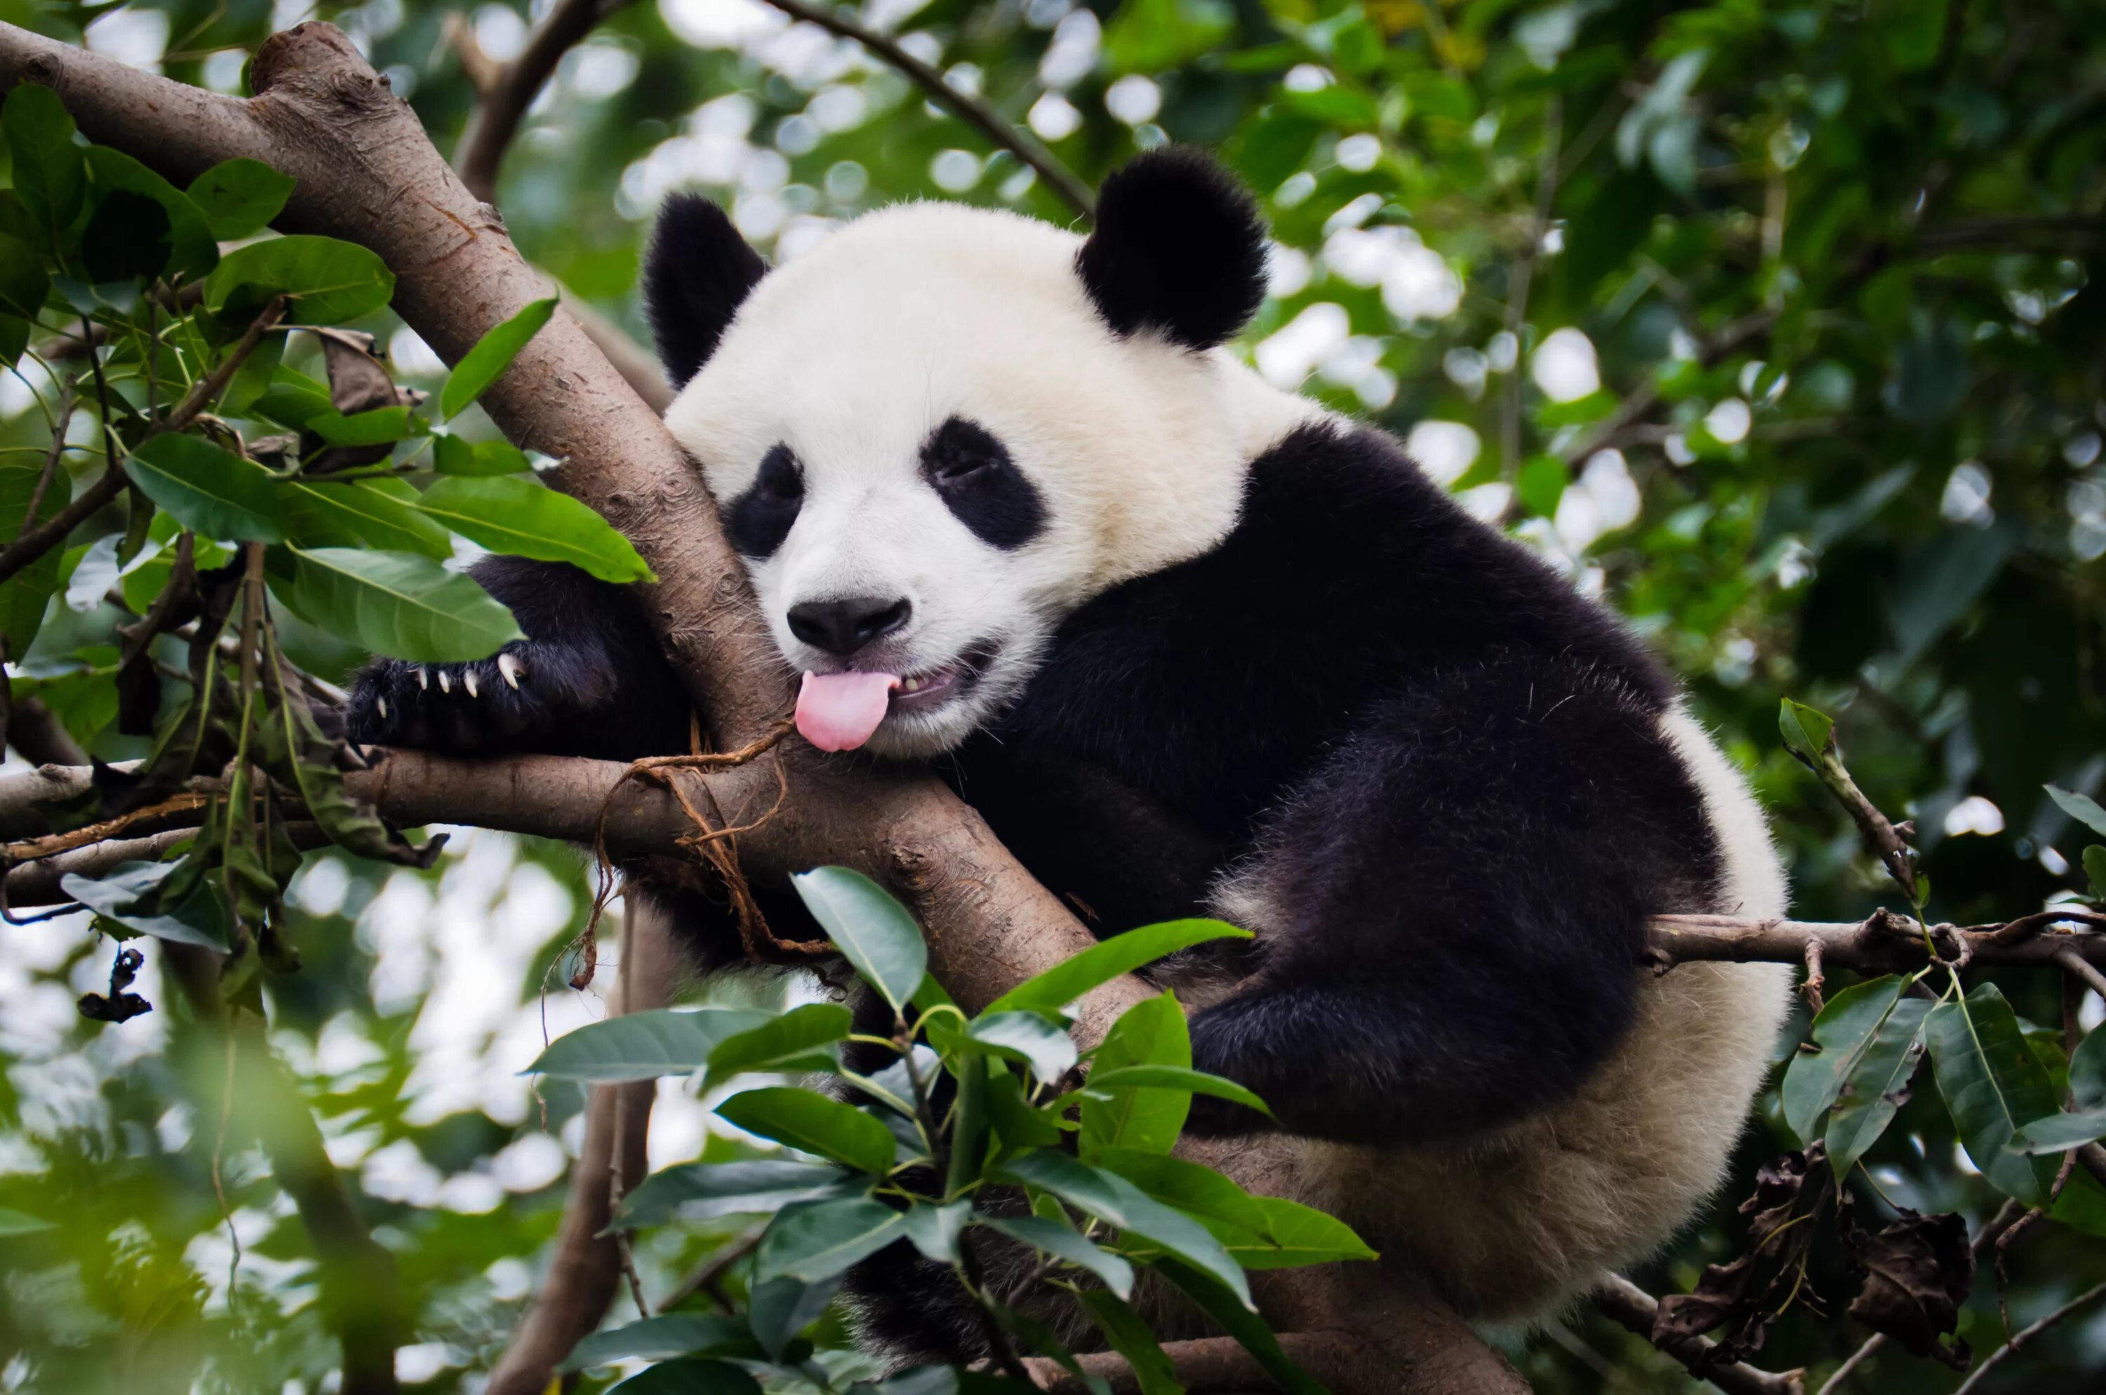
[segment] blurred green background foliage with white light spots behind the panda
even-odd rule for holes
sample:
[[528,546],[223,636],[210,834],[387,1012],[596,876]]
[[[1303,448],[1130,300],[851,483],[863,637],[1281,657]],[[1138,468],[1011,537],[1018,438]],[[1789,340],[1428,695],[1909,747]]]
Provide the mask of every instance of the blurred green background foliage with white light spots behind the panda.
[[[1775,811],[1799,915],[1857,917],[1891,896],[1780,748],[1786,693],[1839,714],[1866,792],[1916,820],[1935,917],[2005,919],[2083,885],[2077,834],[2041,786],[2095,790],[2106,775],[2106,6],[870,0],[845,13],[899,34],[1091,183],[1165,139],[1236,166],[1278,240],[1274,297],[1243,348],[1270,379],[1396,430],[1470,508],[1672,657]],[[476,91],[449,25],[503,61],[537,15],[8,0],[0,17],[230,93],[265,34],[331,19],[451,150]],[[497,202],[535,261],[640,333],[644,219],[674,188],[724,200],[775,259],[901,198],[1074,219],[1013,154],[857,44],[756,0],[615,8],[535,103]],[[409,381],[440,377],[409,329],[373,329]],[[29,360],[0,377],[0,445],[42,440],[44,388]],[[19,672],[86,681],[116,620],[99,594],[55,601]],[[301,657],[331,672],[354,655]],[[93,704],[67,712],[97,754],[137,754]],[[514,1073],[543,1024],[602,1011],[541,993],[588,904],[573,853],[489,832],[457,839],[430,872],[318,856],[297,887],[307,957],[272,982],[274,1041],[402,1260],[411,1389],[480,1389],[554,1233],[577,1096],[537,1098]],[[8,927],[4,944],[0,1207],[63,1229],[0,1235],[0,1391],[333,1389],[312,1250],[259,1153],[219,1159],[234,1218],[221,1222],[211,1062],[164,1056],[162,1014],[110,1028],[76,1016],[74,997],[107,976],[82,923]],[[141,993],[158,1003],[154,969]],[[2001,982],[2058,1052],[2058,986]],[[2083,1024],[2098,1018],[2093,997]],[[1771,1098],[1716,1214],[1636,1277],[1687,1290],[1737,1252],[1731,1205],[1790,1142]],[[653,1165],[703,1146],[741,1144],[665,1087]],[[1996,1205],[1935,1100],[1904,1108],[1868,1163],[1895,1203]],[[2072,1186],[2106,1216],[2087,1176]],[[647,1285],[672,1285],[716,1239],[655,1235],[638,1254]],[[2024,1323],[2106,1277],[2106,1247],[2039,1226],[2009,1269]],[[1841,1258],[1815,1264],[1824,1279],[1847,1292]],[[2003,1332],[1992,1290],[1984,1275],[1965,1317],[1978,1351]],[[1761,1361],[1820,1376],[1862,1336],[1809,1298]],[[1693,1389],[1592,1313],[1512,1349],[1544,1391]],[[1990,1389],[2102,1378],[2093,1311]],[[1956,1380],[1889,1351],[1853,1389]]]

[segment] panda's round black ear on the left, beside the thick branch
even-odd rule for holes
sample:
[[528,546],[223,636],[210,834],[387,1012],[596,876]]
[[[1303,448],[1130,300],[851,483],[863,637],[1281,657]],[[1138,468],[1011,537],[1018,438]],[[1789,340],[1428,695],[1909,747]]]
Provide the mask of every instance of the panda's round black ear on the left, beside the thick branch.
[[672,194],[644,253],[644,314],[674,388],[710,360],[746,293],[767,276],[724,211],[699,194]]

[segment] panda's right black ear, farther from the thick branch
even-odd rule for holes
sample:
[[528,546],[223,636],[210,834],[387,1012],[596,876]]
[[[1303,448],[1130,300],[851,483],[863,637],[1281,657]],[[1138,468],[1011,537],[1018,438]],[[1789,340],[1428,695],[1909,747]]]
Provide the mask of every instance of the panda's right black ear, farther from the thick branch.
[[1266,299],[1266,223],[1211,156],[1158,145],[1104,181],[1076,270],[1116,333],[1156,329],[1205,350]]

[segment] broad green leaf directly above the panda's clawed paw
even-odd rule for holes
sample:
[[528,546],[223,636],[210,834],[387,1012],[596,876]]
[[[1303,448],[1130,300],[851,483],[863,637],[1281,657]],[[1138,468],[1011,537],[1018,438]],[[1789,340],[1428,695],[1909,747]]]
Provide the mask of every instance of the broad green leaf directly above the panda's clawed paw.
[[289,548],[289,588],[272,590],[310,624],[411,664],[486,660],[526,638],[512,611],[461,571],[411,552]]

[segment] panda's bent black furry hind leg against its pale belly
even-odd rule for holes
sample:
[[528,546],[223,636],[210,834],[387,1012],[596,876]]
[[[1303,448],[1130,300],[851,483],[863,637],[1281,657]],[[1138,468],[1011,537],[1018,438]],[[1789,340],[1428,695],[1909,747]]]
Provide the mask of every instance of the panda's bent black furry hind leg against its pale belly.
[[[1419,1142],[1571,1094],[1634,1014],[1643,925],[1716,883],[1657,712],[1556,660],[1388,704],[1283,805],[1257,971],[1194,1014],[1200,1070],[1293,1134]],[[1196,1134],[1266,1125],[1194,1100]]]

